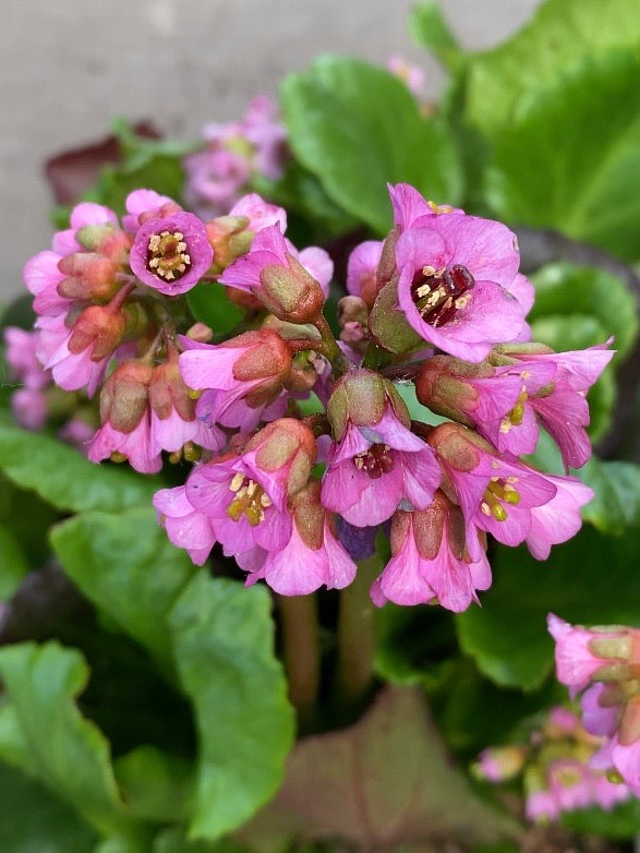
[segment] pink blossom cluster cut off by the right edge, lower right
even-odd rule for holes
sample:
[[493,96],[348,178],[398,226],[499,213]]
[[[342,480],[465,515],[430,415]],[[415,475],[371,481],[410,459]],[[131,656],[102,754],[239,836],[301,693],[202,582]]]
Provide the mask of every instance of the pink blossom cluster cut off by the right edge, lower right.
[[640,629],[569,625],[553,613],[548,629],[558,681],[580,697],[582,725],[602,742],[590,766],[640,796]]

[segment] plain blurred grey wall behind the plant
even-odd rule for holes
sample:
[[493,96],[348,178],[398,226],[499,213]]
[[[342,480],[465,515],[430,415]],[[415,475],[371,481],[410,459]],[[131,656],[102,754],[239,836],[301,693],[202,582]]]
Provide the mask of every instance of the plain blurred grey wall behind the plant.
[[[539,0],[440,0],[464,46],[490,47]],[[26,259],[48,248],[51,196],[41,164],[105,136],[113,116],[195,136],[275,94],[316,53],[384,64],[399,52],[437,65],[409,38],[411,0],[2,0],[0,26],[0,298],[22,290]]]

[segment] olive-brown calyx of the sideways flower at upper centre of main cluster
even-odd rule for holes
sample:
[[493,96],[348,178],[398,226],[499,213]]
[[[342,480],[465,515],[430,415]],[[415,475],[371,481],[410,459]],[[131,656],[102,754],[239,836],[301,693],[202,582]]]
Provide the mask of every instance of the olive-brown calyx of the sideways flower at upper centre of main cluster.
[[293,255],[287,254],[287,262],[288,267],[270,264],[262,269],[259,300],[280,320],[312,323],[325,301],[323,289]]

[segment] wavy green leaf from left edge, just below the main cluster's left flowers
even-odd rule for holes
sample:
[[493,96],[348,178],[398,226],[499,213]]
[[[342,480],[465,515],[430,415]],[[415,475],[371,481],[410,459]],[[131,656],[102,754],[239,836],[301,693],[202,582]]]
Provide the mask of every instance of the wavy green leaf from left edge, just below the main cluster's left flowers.
[[9,419],[0,419],[0,470],[16,485],[71,512],[148,505],[161,488],[156,477],[94,465],[52,436],[26,432]]

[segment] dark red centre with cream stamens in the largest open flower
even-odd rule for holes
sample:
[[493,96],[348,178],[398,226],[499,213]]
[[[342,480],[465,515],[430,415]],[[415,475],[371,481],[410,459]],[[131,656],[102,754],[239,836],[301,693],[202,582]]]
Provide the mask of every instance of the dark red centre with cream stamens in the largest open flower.
[[450,269],[423,266],[411,285],[411,296],[420,315],[430,326],[442,326],[464,308],[475,280],[461,264]]

